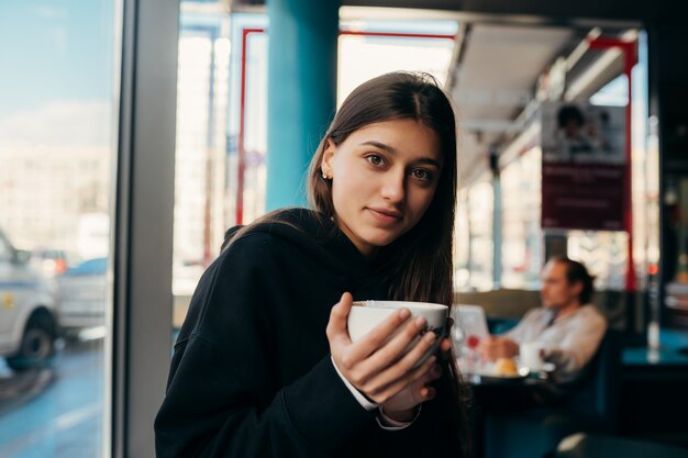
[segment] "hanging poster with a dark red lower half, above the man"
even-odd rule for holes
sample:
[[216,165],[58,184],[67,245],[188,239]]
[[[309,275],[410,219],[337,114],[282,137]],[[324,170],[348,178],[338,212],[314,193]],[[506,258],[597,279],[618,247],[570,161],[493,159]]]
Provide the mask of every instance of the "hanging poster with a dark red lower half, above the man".
[[625,108],[542,104],[542,227],[623,231]]

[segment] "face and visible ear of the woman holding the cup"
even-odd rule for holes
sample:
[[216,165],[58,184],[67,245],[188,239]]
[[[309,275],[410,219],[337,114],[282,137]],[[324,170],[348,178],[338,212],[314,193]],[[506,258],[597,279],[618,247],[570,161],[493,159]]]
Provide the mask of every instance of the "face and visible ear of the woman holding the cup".
[[414,120],[368,124],[341,145],[328,142],[321,169],[332,179],[339,227],[364,256],[421,220],[437,189],[440,139]]

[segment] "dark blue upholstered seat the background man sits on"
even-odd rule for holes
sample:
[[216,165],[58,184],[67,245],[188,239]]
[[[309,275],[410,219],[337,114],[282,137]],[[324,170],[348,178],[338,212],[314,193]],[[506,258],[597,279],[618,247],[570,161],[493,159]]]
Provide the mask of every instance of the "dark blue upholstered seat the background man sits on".
[[573,433],[614,433],[618,427],[621,336],[609,329],[587,371],[544,407],[489,412],[485,458],[542,458]]

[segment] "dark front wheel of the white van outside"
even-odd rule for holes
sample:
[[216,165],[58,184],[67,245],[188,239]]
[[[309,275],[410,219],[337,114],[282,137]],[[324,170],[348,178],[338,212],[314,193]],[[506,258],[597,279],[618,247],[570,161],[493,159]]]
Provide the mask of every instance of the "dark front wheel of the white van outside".
[[14,370],[45,366],[55,354],[55,332],[46,320],[31,320],[24,329],[19,351],[7,358]]

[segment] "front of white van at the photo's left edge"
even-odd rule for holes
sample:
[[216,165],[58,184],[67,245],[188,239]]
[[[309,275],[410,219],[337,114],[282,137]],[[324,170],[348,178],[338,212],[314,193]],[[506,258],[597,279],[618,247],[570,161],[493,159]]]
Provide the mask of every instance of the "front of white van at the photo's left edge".
[[14,370],[49,361],[58,331],[48,286],[29,258],[0,231],[0,357]]

